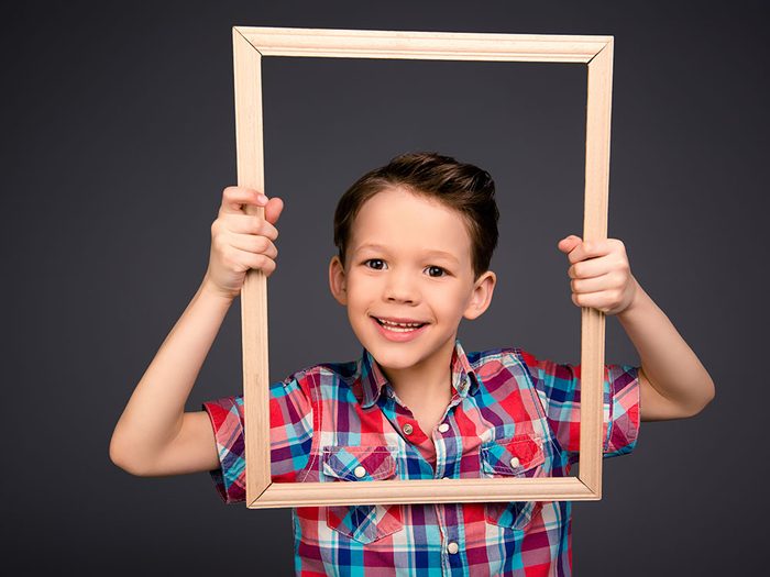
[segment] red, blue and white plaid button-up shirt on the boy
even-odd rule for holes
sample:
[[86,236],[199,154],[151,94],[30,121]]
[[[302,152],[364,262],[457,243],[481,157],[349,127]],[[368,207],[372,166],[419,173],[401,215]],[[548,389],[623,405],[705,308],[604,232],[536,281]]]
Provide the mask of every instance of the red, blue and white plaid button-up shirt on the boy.
[[[521,348],[452,354],[452,400],[421,431],[380,365],[326,363],[271,385],[276,482],[566,476],[580,450],[580,365]],[[245,500],[243,397],[205,402],[227,503]],[[606,365],[604,457],[630,453],[639,431],[638,367]],[[429,435],[429,436],[428,436]],[[570,501],[299,507],[299,576],[569,576]]]

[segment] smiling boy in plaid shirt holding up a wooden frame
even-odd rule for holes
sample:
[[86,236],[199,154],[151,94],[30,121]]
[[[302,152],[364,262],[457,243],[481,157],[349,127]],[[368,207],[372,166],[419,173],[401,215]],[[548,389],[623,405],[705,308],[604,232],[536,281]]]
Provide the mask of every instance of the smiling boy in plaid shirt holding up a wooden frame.
[[[245,215],[246,203],[265,219]],[[275,269],[282,209],[224,190],[205,280],[116,426],[120,467],[210,470],[226,502],[244,500],[243,398],[184,406],[246,270]],[[457,339],[462,318],[492,300],[497,218],[486,171],[431,153],[396,157],[343,195],[329,282],[363,351],[271,385],[274,481],[569,474],[580,366],[520,348],[466,354]],[[606,365],[604,379],[604,456],[630,453],[640,420],[692,417],[714,385],[631,276],[620,241],[568,236],[558,248],[573,302],[617,315],[639,353],[640,367]],[[293,518],[298,575],[571,574],[569,501],[305,507]]]

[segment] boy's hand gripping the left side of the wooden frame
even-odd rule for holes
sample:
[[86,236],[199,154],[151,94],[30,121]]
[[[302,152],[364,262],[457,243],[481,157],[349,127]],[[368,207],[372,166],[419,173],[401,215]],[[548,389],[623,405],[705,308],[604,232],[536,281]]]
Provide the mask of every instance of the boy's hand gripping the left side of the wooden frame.
[[[248,206],[260,207],[246,212]],[[278,237],[274,226],[284,209],[278,197],[267,199],[258,190],[227,187],[222,206],[211,224],[211,254],[204,282],[216,292],[234,299],[249,269],[270,276],[276,267],[278,249],[272,241]]]

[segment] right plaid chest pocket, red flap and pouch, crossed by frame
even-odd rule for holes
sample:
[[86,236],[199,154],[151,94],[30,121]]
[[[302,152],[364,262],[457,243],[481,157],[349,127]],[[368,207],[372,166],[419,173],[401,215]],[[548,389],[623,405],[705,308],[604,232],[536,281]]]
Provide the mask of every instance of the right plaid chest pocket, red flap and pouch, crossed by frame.
[[[531,478],[546,475],[543,437],[521,433],[485,443],[481,447],[484,476],[491,478]],[[542,509],[543,501],[498,501],[485,503],[487,523],[525,531]]]

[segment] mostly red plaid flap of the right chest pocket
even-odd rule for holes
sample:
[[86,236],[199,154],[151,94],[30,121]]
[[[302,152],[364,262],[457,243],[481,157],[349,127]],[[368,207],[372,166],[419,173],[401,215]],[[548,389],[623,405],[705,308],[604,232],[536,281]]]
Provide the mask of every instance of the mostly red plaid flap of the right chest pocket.
[[481,447],[484,471],[532,477],[546,462],[542,443],[540,435],[530,433],[491,441]]

